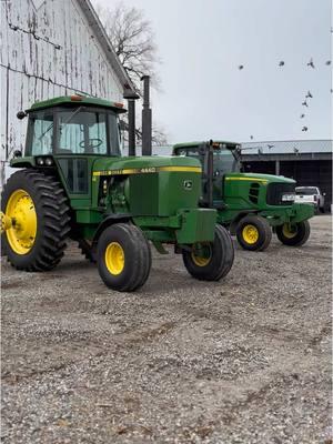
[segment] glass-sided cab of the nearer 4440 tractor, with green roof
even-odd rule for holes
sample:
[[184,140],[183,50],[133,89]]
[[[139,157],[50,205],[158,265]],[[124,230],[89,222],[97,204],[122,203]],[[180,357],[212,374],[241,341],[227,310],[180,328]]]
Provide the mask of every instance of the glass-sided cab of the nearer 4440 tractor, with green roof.
[[33,164],[59,170],[69,194],[84,199],[90,193],[90,172],[102,157],[120,157],[122,103],[81,95],[60,97],[34,103],[27,112],[28,131],[23,158],[12,167]]

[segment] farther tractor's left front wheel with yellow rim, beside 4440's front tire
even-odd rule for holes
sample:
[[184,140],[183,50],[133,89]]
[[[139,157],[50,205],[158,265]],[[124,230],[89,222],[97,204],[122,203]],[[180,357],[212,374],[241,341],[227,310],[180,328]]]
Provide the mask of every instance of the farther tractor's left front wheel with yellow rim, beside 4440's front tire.
[[264,251],[271,243],[272,229],[264,218],[249,214],[239,222],[236,238],[244,250]]

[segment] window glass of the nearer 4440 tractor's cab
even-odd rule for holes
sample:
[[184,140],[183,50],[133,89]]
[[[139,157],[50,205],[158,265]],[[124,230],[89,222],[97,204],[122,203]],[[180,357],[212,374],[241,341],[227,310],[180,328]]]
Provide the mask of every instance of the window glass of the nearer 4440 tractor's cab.
[[49,109],[31,113],[27,154],[40,155],[52,152],[120,155],[117,113],[84,107],[56,110],[56,112],[54,109]]

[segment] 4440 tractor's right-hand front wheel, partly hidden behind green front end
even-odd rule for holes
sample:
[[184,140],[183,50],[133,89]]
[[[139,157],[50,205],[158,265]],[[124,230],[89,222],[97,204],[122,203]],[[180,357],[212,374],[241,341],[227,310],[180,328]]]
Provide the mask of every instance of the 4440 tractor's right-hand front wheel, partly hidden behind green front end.
[[234,249],[229,232],[215,225],[214,242],[192,245],[192,251],[183,250],[183,262],[188,272],[200,281],[220,281],[231,270]]

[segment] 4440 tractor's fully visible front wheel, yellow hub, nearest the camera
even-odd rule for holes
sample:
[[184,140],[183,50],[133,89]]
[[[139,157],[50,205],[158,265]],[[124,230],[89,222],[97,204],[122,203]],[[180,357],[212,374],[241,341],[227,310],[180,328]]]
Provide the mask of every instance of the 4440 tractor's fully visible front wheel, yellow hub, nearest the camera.
[[98,269],[112,290],[131,292],[148,280],[151,251],[142,231],[129,223],[108,226],[98,241]]

